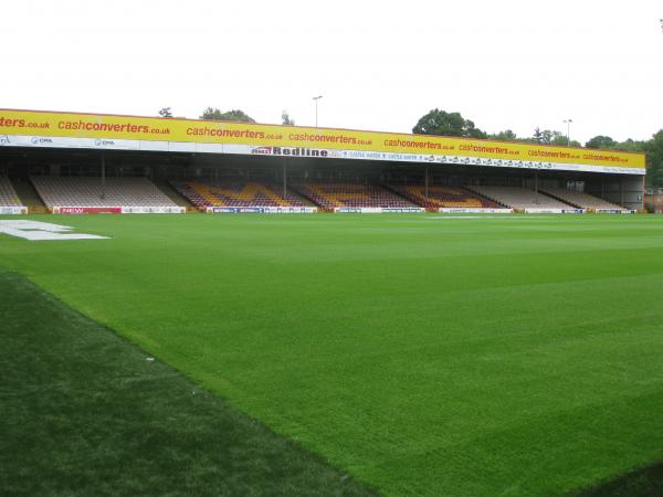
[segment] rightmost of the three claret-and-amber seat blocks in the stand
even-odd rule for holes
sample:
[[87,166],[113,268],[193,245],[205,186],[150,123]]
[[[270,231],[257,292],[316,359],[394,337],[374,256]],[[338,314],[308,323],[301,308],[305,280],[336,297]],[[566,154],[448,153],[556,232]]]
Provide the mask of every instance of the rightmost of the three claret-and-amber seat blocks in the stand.
[[389,188],[401,197],[427,209],[499,209],[503,207],[460,188],[430,186],[428,187],[428,197],[427,189],[422,184],[399,184]]

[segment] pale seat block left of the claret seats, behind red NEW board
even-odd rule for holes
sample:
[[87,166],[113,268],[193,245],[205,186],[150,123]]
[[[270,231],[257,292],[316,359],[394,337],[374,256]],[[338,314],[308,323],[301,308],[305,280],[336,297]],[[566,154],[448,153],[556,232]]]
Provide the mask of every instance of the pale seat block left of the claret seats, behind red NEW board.
[[176,207],[146,178],[34,176],[30,180],[49,209],[54,207]]

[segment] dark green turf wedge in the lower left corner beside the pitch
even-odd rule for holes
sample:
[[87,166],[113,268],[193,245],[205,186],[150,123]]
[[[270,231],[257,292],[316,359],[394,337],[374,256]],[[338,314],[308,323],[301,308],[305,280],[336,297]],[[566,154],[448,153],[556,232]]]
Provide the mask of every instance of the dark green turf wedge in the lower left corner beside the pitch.
[[3,495],[372,495],[19,275],[0,294]]

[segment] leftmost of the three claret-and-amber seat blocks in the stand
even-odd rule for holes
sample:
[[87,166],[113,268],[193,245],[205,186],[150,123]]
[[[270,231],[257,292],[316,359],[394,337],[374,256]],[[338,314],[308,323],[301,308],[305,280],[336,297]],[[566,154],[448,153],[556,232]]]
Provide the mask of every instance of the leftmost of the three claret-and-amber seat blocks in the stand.
[[303,199],[278,187],[259,182],[173,181],[176,190],[197,208],[308,207]]

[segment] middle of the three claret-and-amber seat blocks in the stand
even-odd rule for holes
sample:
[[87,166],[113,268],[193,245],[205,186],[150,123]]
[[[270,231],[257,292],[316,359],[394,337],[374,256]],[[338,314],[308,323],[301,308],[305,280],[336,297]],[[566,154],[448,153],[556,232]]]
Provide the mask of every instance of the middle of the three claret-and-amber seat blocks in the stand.
[[327,211],[337,208],[411,209],[419,207],[376,184],[305,182],[298,184],[297,190]]

